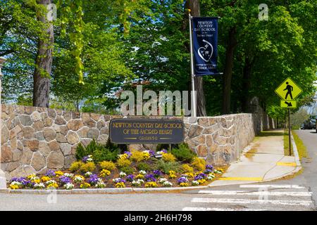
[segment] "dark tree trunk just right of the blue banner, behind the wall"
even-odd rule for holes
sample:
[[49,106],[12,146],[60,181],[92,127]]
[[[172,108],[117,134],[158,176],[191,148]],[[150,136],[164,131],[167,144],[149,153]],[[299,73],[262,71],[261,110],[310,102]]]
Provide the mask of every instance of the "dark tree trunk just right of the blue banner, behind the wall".
[[231,98],[231,79],[233,69],[233,58],[237,39],[235,37],[236,27],[232,27],[228,34],[228,46],[225,52],[225,72],[223,72],[223,105],[222,113],[230,113],[230,98]]

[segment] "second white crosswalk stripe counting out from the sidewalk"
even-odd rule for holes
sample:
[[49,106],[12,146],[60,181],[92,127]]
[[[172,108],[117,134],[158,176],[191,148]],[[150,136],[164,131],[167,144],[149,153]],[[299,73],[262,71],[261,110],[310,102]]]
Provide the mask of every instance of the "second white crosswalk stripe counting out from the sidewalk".
[[270,196],[301,196],[311,197],[311,192],[297,192],[297,191],[199,191],[201,194],[209,195],[270,195]]

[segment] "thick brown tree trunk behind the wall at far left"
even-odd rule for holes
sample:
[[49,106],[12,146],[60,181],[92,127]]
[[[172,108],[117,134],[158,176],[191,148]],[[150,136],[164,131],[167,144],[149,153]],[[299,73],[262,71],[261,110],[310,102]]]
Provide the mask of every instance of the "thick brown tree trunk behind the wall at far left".
[[[39,4],[51,4],[51,0],[39,0]],[[33,76],[33,106],[48,108],[54,30],[53,24],[47,20],[47,15],[39,15],[38,20],[44,24],[44,37],[39,37],[37,43],[37,58]]]

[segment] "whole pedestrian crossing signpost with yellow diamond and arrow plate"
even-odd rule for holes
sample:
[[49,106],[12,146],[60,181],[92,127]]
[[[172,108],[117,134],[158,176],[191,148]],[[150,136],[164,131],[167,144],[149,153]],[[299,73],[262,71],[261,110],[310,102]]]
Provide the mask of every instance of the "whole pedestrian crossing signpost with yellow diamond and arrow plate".
[[290,77],[287,77],[287,79],[285,79],[285,81],[282,82],[277,89],[275,89],[275,93],[282,98],[280,101],[280,107],[287,108],[288,110],[288,146],[290,155],[292,155],[290,109],[297,108],[297,101],[294,101],[294,99],[302,93],[302,89],[292,79],[290,79]]

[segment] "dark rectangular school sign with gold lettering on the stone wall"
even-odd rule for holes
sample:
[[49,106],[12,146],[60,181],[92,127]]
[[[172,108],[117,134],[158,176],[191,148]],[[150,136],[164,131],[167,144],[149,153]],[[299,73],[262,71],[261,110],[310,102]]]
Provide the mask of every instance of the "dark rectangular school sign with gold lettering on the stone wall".
[[113,143],[182,143],[184,122],[163,119],[113,119],[109,126]]

